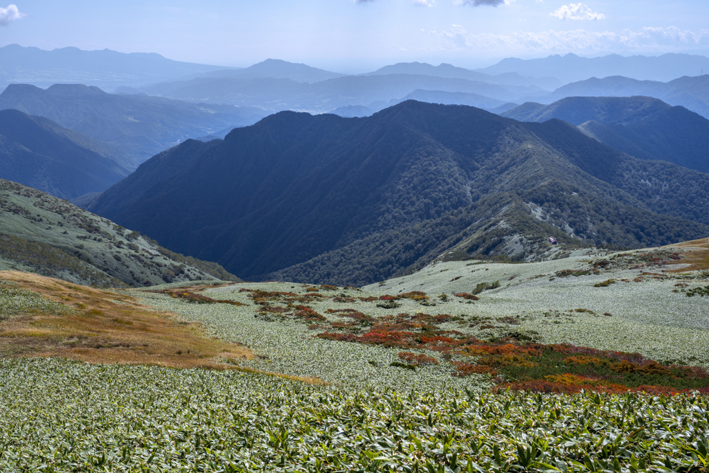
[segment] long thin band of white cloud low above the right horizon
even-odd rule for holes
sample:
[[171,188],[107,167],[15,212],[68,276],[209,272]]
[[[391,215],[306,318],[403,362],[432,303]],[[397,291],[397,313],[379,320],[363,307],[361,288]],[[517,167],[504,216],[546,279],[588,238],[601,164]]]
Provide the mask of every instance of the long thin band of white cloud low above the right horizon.
[[437,39],[435,50],[473,51],[478,55],[535,55],[564,52],[593,53],[631,51],[661,53],[709,47],[709,30],[681,30],[646,27],[640,30],[615,31],[518,31],[510,34],[468,33],[460,25],[447,31],[432,32]]

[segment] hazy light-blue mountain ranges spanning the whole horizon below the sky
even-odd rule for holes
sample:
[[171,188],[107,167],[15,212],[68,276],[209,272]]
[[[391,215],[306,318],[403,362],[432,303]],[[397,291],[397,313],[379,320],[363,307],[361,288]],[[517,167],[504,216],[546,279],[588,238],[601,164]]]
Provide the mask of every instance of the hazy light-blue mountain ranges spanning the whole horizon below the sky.
[[[588,58],[569,54],[536,60],[508,58],[476,70],[445,63],[434,66],[400,62],[374,72],[345,75],[274,59],[242,69],[229,69],[171,61],[160,55],[125,55],[110,50],[43,51],[18,45],[0,48],[0,88],[9,82],[42,87],[72,82],[100,85],[121,94],[142,93],[213,106],[256,107],[265,113],[282,110],[323,113],[357,106],[361,107],[357,113],[362,115],[364,109],[379,111],[408,99],[504,111],[510,108],[508,104],[526,101],[550,104],[566,96],[644,95],[684,106],[709,118],[709,84],[706,79],[697,77],[705,69],[709,72],[709,58],[700,55]],[[491,102],[495,101],[497,104],[493,106]],[[36,109],[20,109],[45,116]],[[259,112],[245,115],[250,113],[257,116]],[[123,115],[130,116],[130,113]],[[77,130],[59,116],[49,118]],[[203,137],[216,130],[255,123],[255,120],[242,118],[216,125],[200,121],[201,130],[188,129],[187,133],[185,127],[172,127],[172,143],[185,136]],[[123,123],[123,127],[114,130],[121,130],[125,125],[130,123]],[[79,131],[98,138],[89,130]],[[148,147],[144,152],[138,151],[143,148],[140,143],[117,145],[128,155],[138,153],[140,159],[145,159],[164,148],[164,136],[158,136],[161,134],[164,135],[152,130],[145,135]],[[134,131],[126,133],[125,139],[131,140],[134,135]],[[160,145],[153,143],[151,147],[151,141]]]

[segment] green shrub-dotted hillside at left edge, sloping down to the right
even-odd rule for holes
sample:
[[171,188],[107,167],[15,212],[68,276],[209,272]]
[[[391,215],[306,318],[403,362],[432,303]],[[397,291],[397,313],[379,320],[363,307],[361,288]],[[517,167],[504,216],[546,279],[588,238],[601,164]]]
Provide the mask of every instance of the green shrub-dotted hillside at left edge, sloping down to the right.
[[65,200],[3,179],[0,269],[104,287],[239,280],[220,265],[176,254]]

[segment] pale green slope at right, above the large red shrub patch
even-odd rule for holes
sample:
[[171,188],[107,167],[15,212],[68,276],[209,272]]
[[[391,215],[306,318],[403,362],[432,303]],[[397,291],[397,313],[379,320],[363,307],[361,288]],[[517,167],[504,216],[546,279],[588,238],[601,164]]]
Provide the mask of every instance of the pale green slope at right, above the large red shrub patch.
[[[674,250],[684,251],[682,247],[674,247]],[[642,255],[649,251],[652,249],[625,254]],[[709,279],[699,272],[673,274],[669,271],[678,266],[666,265],[601,270],[600,274],[579,277],[556,274],[565,269],[589,269],[593,262],[621,254],[588,250],[562,260],[518,265],[437,263],[415,274],[362,289],[381,294],[408,291],[451,294],[469,292],[480,282],[500,281],[500,288],[479,294],[481,300],[465,306],[466,311],[493,318],[519,317],[520,325],[515,328],[534,330],[545,343],[637,351],[658,360],[708,365],[709,349],[705,347],[709,346],[709,301],[700,296],[687,297],[676,286],[688,284],[686,289],[706,286]],[[640,277],[642,272],[663,276]],[[638,277],[641,282],[635,282]],[[593,286],[608,279],[617,282],[607,287]],[[457,300],[439,303],[439,306],[442,311],[453,313],[459,304]],[[595,314],[578,313],[575,310],[579,308]],[[611,316],[603,316],[603,313]]]

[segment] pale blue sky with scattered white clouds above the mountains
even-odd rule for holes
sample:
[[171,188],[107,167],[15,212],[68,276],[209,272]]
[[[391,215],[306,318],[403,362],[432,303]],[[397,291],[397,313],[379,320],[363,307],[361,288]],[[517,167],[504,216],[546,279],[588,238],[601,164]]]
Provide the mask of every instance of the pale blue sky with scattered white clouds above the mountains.
[[0,46],[11,43],[341,72],[414,60],[483,67],[566,52],[707,53],[709,1],[18,0],[0,4]]

